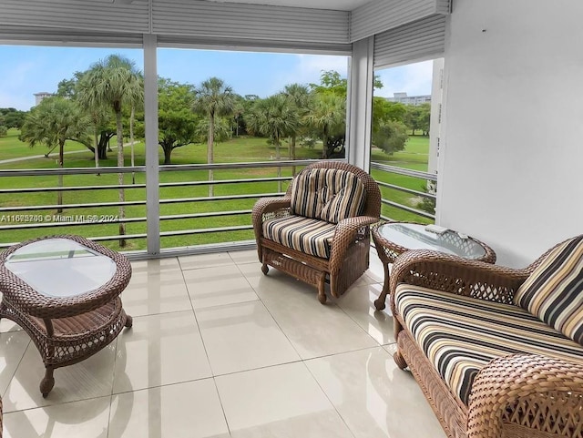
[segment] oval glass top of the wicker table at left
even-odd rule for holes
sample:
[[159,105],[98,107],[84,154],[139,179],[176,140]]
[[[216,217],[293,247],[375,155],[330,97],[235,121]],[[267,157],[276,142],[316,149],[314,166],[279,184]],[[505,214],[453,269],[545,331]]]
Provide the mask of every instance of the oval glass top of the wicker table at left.
[[15,250],[5,268],[46,296],[71,297],[111,280],[116,263],[69,239],[43,239]]

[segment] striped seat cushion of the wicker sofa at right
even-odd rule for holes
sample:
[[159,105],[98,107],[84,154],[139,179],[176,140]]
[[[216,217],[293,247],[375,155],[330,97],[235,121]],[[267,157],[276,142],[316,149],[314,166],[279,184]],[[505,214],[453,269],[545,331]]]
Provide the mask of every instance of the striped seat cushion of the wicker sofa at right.
[[583,347],[518,306],[407,284],[394,300],[405,327],[466,405],[477,372],[496,357],[532,353],[583,363]]

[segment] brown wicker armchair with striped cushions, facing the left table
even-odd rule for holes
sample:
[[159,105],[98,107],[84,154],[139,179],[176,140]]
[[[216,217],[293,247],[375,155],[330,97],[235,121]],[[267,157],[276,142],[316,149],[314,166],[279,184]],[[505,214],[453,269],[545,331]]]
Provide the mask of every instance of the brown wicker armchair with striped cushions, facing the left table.
[[257,251],[268,266],[338,297],[368,269],[369,226],[381,212],[376,182],[337,161],[314,163],[296,175],[282,198],[263,198],[252,212]]

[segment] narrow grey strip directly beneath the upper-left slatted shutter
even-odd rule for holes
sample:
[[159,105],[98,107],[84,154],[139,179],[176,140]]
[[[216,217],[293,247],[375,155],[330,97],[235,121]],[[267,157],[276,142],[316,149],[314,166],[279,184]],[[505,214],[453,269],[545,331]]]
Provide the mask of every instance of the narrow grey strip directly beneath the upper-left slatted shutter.
[[61,28],[1,25],[0,44],[38,46],[143,46],[142,34],[115,34]]

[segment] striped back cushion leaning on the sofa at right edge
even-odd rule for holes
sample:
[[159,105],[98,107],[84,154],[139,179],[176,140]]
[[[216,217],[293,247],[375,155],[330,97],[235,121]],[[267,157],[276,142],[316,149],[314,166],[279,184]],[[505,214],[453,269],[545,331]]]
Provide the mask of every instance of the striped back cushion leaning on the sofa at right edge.
[[583,235],[548,254],[517,290],[514,300],[583,345]]

